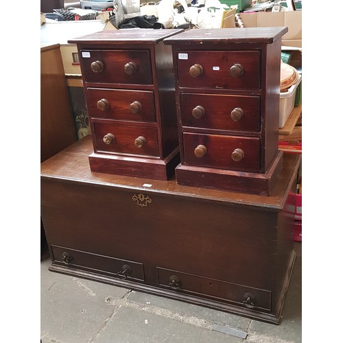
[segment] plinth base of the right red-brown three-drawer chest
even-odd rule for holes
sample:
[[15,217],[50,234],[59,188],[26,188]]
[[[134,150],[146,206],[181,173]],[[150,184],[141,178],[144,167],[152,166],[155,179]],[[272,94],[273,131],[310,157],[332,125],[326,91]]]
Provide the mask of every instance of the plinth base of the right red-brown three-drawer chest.
[[175,174],[179,185],[269,196],[282,165],[283,152],[279,151],[265,174],[182,164],[176,167]]

